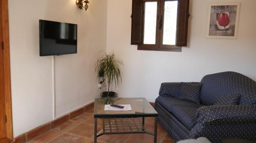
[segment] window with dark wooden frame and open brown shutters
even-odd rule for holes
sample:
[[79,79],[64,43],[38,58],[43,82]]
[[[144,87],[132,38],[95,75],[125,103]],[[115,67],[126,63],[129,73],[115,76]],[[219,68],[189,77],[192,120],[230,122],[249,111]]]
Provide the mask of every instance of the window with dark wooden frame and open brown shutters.
[[181,51],[187,43],[189,0],[133,0],[132,45]]

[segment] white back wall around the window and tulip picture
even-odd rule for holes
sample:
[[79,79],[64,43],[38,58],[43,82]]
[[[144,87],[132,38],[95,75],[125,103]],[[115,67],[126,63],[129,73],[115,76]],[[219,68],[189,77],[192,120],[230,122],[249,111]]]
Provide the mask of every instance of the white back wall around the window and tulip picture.
[[[208,5],[241,2],[238,38],[207,39]],[[200,81],[206,74],[236,71],[256,80],[255,0],[190,1],[188,47],[182,52],[142,51],[130,45],[132,0],[108,0],[107,51],[123,60],[120,97],[154,101],[160,83]]]

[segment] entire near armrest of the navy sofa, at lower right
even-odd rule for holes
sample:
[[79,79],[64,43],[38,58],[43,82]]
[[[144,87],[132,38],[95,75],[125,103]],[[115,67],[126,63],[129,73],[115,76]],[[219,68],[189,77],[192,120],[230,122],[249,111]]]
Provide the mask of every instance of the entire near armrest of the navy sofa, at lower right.
[[256,139],[256,105],[202,106],[190,138],[207,137],[212,142],[222,138]]

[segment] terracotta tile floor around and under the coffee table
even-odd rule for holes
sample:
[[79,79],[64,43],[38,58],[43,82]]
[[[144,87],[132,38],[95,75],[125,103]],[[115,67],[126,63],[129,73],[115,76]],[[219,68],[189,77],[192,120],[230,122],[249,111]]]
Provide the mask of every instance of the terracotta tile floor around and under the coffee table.
[[[154,131],[154,119],[145,118],[145,128],[147,131]],[[98,120],[98,131],[102,131],[102,121]],[[157,142],[174,143],[175,141],[158,124]],[[81,115],[41,134],[27,143],[93,143],[94,138],[94,118],[93,110],[82,113]],[[148,134],[121,134],[121,135],[102,135],[97,138],[98,143],[150,143],[153,136]]]

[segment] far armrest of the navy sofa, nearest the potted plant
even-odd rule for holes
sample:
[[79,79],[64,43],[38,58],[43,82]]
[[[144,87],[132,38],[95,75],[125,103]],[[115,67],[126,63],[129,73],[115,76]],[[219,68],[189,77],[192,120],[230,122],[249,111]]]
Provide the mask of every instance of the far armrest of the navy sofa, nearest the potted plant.
[[160,96],[174,96],[180,95],[181,82],[165,82],[161,84],[159,95]]

